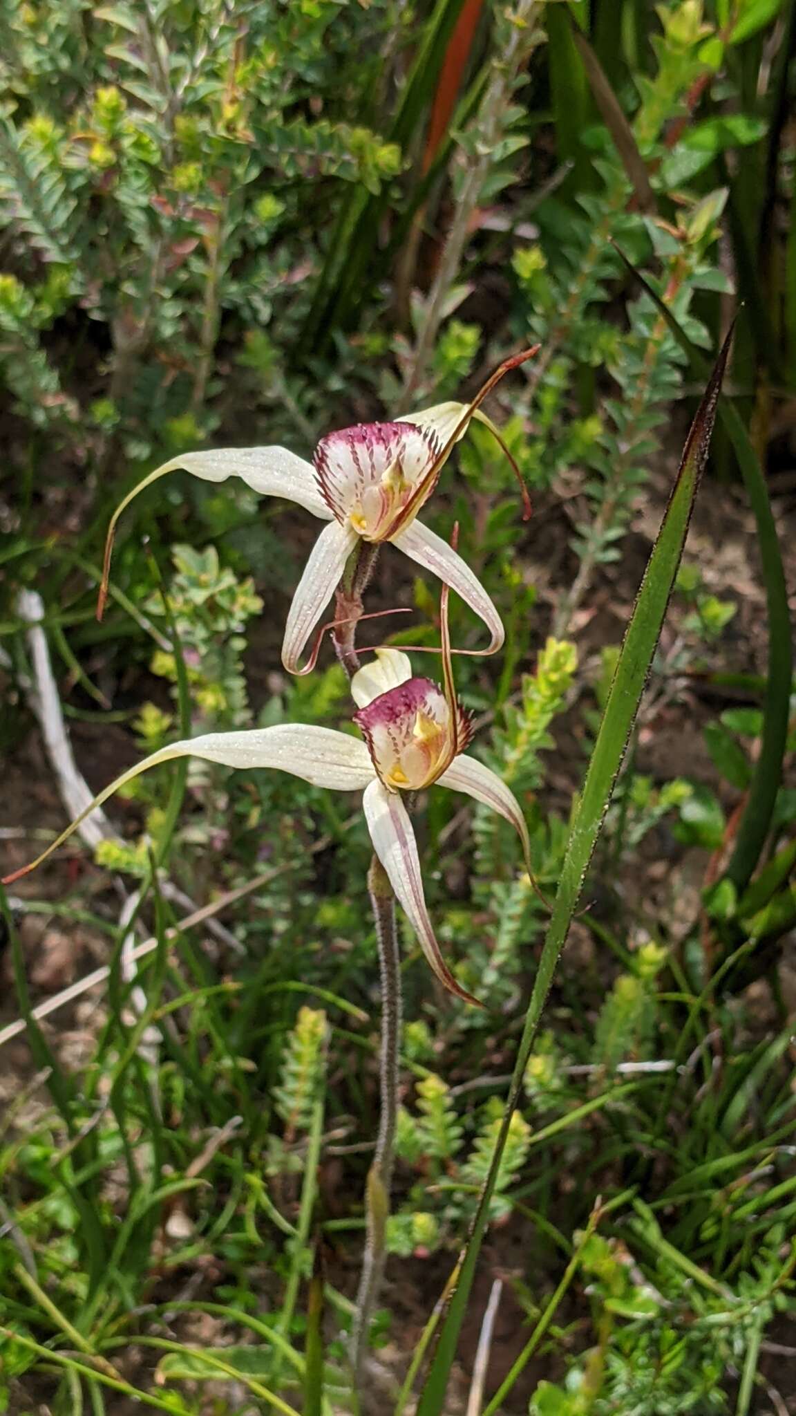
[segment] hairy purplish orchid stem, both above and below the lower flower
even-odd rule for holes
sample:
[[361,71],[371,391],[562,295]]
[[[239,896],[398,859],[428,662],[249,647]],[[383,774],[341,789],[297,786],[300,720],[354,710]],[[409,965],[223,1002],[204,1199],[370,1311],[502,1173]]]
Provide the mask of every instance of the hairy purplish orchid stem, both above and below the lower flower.
[[[360,667],[356,650],[357,622],[363,613],[363,593],[373,575],[378,547],[363,542],[351,554],[336,599],[333,630],[337,658],[348,680]],[[368,869],[368,895],[375,923],[381,983],[380,1046],[380,1121],[375,1154],[365,1189],[365,1252],[351,1324],[351,1366],[354,1385],[361,1392],[363,1368],[368,1349],[370,1324],[384,1277],[387,1260],[387,1221],[392,1185],[395,1126],[398,1119],[398,1048],[401,1039],[402,998],[395,896],[377,855]]]

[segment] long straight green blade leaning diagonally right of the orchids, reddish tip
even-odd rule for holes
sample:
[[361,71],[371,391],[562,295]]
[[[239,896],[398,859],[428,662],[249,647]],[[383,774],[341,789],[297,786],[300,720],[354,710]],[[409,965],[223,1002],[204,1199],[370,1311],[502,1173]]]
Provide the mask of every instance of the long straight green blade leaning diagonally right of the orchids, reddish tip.
[[653,654],[660,637],[669,598],[677,575],[677,568],[686,544],[694,498],[700,476],[707,460],[708,445],[715,422],[715,409],[727,357],[729,337],[724,341],[721,354],[711,374],[705,394],[691,425],[677,480],[666,508],[666,514],[653,547],[644,578],[639,589],[633,615],[627,626],[616,673],[605,705],[598,739],[586,772],[581,801],[575,810],[567,854],[561,868],[561,882],[555,896],[552,916],[547,930],[538,971],[525,1015],[525,1025],[517,1052],[517,1063],[503,1126],[491,1160],[479,1208],[469,1240],[459,1260],[460,1273],[456,1291],[445,1317],[442,1332],[431,1371],[423,1386],[416,1416],[442,1416],[450,1366],[456,1352],[459,1330],[467,1307],[476,1262],[489,1219],[489,1205],[494,1191],[508,1126],[517,1104],[527,1061],[540,1025],[541,1014],[552,983],[555,966],[569,933],[581,889],[592,858],[592,852],[613,792],[616,776],[622,766],[627,739],[633,726],[639,702],[644,691]]

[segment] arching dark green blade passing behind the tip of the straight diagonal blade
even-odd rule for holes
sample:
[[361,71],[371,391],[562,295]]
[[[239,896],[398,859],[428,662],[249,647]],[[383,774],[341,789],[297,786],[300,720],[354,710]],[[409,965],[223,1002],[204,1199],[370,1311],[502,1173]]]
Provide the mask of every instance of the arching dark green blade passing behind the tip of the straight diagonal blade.
[[[639,280],[647,295],[654,300],[657,309],[666,317],[674,338],[688,355],[691,368],[697,378],[705,378],[707,367],[703,355],[694,348],[688,336],[671,314],[671,310],[649,285],[644,276],[635,268],[627,256],[615,248],[625,265]],[[788,605],[788,582],[782,565],[782,551],[776,523],[771,510],[771,501],[758,455],[738,409],[722,398],[718,404],[720,421],[732,443],[744,487],[749,498],[749,506],[755,517],[758,531],[758,545],[761,552],[761,569],[766,590],[768,612],[768,680],[763,704],[763,732],[761,752],[755,763],[752,784],[746,797],[746,806],[741,817],[741,824],[735,834],[735,847],[727,877],[732,881],[738,892],[742,892],[761,858],[762,848],[771,827],[776,794],[782,782],[782,762],[788,745],[788,726],[790,718],[790,685],[793,678],[793,636],[790,629],[790,610]]]

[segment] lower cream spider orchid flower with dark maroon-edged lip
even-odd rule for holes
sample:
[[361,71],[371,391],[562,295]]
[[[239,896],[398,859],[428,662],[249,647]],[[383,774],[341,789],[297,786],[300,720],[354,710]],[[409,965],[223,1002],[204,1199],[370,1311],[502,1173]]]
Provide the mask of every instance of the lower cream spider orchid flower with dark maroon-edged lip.
[[[173,742],[153,752],[105,787],[89,807],[31,865],[8,875],[11,884],[51,854],[96,806],[139,773],[173,758],[203,758],[225,767],[273,767],[290,772],[312,786],[333,792],[364,790],[363,809],[374,851],[392,891],[406,912],[433,973],[450,993],[477,1003],[450,973],[431,923],[418,847],[402,793],[432,784],[463,792],[483,801],[514,826],[528,861],[528,833],[520,803],[508,787],[476,758],[467,756],[470,721],[453,697],[448,627],[443,616],[445,691],[429,678],[412,677],[406,654],[377,650],[377,660],[353,678],[358,711],[354,721],[364,733],[354,738],[334,728],[278,724],[242,732],[210,732]],[[530,867],[528,867],[530,868]]]

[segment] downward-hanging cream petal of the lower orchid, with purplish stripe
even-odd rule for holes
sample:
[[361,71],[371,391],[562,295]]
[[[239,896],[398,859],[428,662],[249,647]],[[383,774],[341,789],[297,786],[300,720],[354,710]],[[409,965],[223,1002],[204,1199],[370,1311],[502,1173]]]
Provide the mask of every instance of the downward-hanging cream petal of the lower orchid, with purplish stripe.
[[401,797],[395,792],[388,792],[381,782],[371,782],[363,797],[363,807],[374,851],[387,871],[398,903],[409,916],[409,923],[433,973],[457,998],[477,1003],[477,998],[456,983],[439,952],[428,918],[415,833]]

